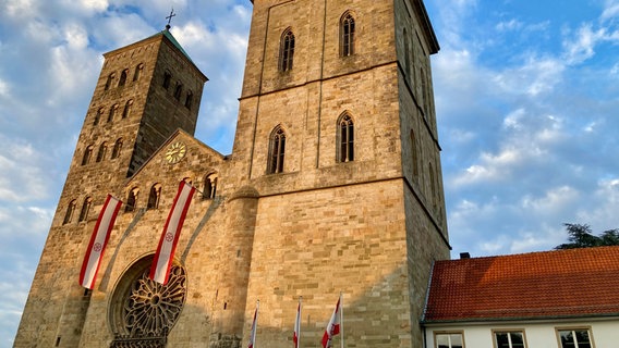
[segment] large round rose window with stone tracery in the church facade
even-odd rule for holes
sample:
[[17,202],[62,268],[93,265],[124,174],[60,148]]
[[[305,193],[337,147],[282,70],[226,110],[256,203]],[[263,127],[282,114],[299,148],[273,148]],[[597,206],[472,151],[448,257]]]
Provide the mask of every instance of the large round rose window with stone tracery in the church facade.
[[112,348],[162,348],[187,294],[186,270],[174,262],[161,285],[148,277],[154,256],[133,263],[120,277],[108,307]]

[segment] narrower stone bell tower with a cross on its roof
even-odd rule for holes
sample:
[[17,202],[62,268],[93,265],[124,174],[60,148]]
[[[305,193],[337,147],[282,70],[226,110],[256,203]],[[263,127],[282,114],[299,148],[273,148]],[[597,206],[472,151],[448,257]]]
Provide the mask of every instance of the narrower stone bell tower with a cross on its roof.
[[75,279],[106,195],[122,192],[175,129],[195,130],[207,78],[169,27],[104,57],[15,347],[77,346],[90,293]]

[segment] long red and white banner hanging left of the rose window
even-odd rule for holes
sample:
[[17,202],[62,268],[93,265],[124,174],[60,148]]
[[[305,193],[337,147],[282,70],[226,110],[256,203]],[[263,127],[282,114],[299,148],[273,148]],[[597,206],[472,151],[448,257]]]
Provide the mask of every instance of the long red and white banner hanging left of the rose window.
[[104,208],[97,219],[95,231],[93,231],[90,241],[88,243],[88,249],[86,250],[86,256],[82,263],[82,271],[80,271],[80,284],[85,288],[93,289],[95,287],[99,264],[104,258],[104,251],[106,251],[110,232],[112,231],[121,204],[122,202],[120,200],[110,195],[106,198]]

